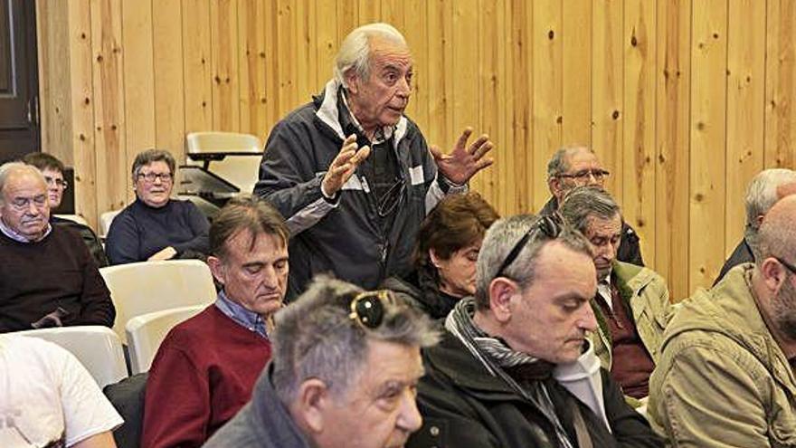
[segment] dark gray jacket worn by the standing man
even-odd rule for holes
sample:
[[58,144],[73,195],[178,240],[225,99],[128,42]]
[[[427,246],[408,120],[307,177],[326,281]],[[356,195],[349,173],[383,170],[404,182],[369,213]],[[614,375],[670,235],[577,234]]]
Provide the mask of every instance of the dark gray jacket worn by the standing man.
[[[384,231],[380,225],[378,201],[360,169],[334,201],[325,199],[321,181],[346,137],[337,109],[339,89],[336,81],[329,81],[322,95],[277,123],[254,187],[256,195],[280,211],[290,229],[289,298],[321,272],[333,272],[365,289],[409,272],[415,234],[426,211],[447,189],[437,178],[420,129],[403,117],[393,133],[403,189],[392,226]],[[450,191],[454,189],[460,191]]]

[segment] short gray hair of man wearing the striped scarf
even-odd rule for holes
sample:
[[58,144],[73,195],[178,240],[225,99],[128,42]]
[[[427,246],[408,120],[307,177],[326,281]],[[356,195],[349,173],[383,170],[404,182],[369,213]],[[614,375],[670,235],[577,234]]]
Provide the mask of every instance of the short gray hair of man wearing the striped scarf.
[[583,253],[590,259],[593,257],[592,246],[580,232],[566,224],[556,224],[557,236],[545,234],[542,230],[534,230],[543,225],[542,220],[553,220],[550,216],[535,216],[533,214],[517,214],[499,219],[492,224],[481,243],[479,260],[476,264],[476,306],[479,310],[489,308],[489,284],[498,275],[500,265],[506,261],[508,253],[529,232],[534,232],[525,243],[525,247],[517,254],[516,259],[504,270],[506,277],[517,281],[520,288],[525,290],[534,281],[536,260],[539,253],[547,243],[553,241],[563,243],[573,252]]

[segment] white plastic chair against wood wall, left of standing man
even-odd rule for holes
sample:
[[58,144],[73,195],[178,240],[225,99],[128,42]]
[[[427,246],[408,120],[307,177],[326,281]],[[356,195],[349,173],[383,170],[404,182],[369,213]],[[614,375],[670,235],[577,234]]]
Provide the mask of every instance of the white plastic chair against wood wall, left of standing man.
[[226,156],[205,167],[244,193],[254,189],[261,162],[258,156],[262,154],[262,141],[257,136],[237,132],[191,132],[187,135],[187,148],[189,159],[191,154],[207,152],[251,153],[251,156]]

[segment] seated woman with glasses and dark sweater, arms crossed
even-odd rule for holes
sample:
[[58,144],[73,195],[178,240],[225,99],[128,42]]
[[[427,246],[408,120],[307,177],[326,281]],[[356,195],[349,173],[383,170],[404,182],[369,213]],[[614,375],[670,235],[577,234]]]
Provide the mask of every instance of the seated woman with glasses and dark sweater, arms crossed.
[[133,162],[136,201],[110,224],[105,250],[110,264],[204,258],[207,218],[190,201],[171,197],[175,159],[161,149],[147,149]]

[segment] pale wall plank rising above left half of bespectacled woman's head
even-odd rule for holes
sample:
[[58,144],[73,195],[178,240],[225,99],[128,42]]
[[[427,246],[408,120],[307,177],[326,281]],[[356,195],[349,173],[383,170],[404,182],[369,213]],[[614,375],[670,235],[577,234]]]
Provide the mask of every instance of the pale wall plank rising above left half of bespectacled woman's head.
[[[122,3],[124,49],[125,166],[132,166],[137,152],[156,146],[155,70],[152,3]],[[173,61],[179,62],[174,59]],[[128,188],[128,201],[134,197]]]

